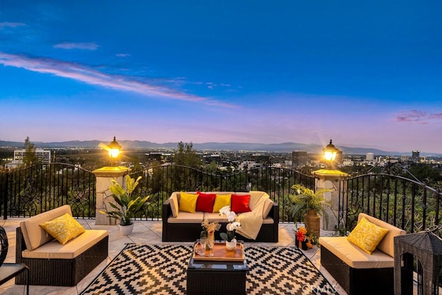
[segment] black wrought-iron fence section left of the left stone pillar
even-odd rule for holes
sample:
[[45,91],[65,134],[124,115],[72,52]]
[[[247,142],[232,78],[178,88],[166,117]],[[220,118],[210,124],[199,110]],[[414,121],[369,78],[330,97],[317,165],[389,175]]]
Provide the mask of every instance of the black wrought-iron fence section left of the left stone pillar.
[[37,164],[0,173],[0,209],[28,217],[70,204],[78,218],[95,217],[95,175],[64,163]]

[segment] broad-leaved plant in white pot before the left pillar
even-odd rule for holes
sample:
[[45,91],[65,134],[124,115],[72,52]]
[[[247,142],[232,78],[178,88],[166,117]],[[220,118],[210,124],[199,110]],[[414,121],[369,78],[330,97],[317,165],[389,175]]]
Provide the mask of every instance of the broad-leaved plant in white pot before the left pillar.
[[115,180],[112,181],[109,190],[113,193],[112,197],[115,202],[119,205],[109,202],[108,204],[113,207],[114,210],[111,211],[99,211],[100,213],[107,214],[110,218],[115,218],[119,220],[119,229],[122,231],[124,236],[132,233],[133,230],[133,218],[140,211],[146,209],[147,199],[149,196],[142,198],[140,196],[134,196],[133,191],[137,187],[141,180],[141,176],[135,181],[129,175],[126,175],[126,189],[123,189],[121,185]]

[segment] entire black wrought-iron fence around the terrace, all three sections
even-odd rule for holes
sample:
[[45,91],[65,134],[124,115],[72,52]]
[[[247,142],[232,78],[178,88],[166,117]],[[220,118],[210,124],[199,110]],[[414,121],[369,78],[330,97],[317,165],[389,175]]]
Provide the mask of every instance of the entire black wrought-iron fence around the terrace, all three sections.
[[[389,173],[387,173],[389,172]],[[340,180],[336,186],[338,224],[349,230],[359,212],[375,216],[412,233],[439,225],[441,188],[394,175],[368,173]],[[162,204],[173,191],[266,191],[280,206],[280,221],[293,222],[288,196],[293,184],[315,189],[314,176],[291,169],[260,167],[233,174],[213,174],[186,166],[153,166],[131,173],[142,176],[136,193],[150,196],[137,220],[160,220]],[[95,175],[71,164],[38,164],[0,173],[0,210],[8,216],[34,216],[70,204],[77,218],[95,217]],[[298,216],[298,220],[300,220]]]

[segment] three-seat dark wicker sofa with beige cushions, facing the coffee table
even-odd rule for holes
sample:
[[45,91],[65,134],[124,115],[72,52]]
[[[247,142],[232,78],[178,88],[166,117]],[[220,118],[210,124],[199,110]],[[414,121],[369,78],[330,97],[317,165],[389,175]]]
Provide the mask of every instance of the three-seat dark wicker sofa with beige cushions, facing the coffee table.
[[[216,210],[220,203],[218,200],[227,200],[224,203],[231,207],[232,211],[238,208],[236,207],[236,197],[242,200],[247,200],[247,196],[250,196],[248,204],[242,204],[249,206],[250,212],[236,212],[238,214],[238,220],[242,220],[242,231],[236,231],[236,239],[244,241],[256,241],[256,242],[278,242],[278,223],[279,223],[279,207],[276,202],[273,202],[267,193],[264,191],[249,191],[249,192],[233,192],[233,191],[209,191],[209,192],[185,192],[185,194],[198,195],[199,200],[202,200],[202,196],[215,196],[213,204],[210,203],[206,206],[205,211],[197,211],[198,207],[195,207],[195,211],[181,211],[180,201],[181,192],[173,192],[171,197],[166,200],[162,208],[162,241],[163,242],[191,242],[200,238],[202,231],[202,221],[204,219],[209,222],[218,221],[221,224],[221,229],[215,231],[215,240],[221,240],[220,233],[226,232],[226,225],[229,223],[226,216],[220,216],[220,213]],[[198,201],[198,200],[197,200]],[[262,201],[262,202],[261,202]],[[199,204],[199,203],[198,203]],[[211,207],[212,206],[212,207]],[[201,207],[201,206],[199,206]],[[215,211],[213,211],[215,209]],[[192,210],[190,210],[192,211]],[[244,216],[241,216],[245,214]],[[257,226],[256,237],[251,237],[248,231],[248,225],[245,218],[247,216],[254,216]],[[262,224],[260,223],[262,222]]]

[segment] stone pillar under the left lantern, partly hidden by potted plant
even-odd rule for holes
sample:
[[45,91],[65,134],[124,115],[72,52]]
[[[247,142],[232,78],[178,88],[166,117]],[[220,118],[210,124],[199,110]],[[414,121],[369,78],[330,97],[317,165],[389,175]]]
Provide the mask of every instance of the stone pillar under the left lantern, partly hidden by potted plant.
[[112,182],[111,180],[117,181],[122,187],[126,187],[124,183],[124,176],[128,174],[131,169],[118,166],[118,167],[103,167],[94,170],[93,173],[97,177],[96,190],[97,190],[97,200],[95,203],[95,225],[117,225],[117,220],[115,218],[108,218],[106,214],[99,213],[100,210],[111,211],[113,209],[109,202],[115,203],[112,198],[112,193],[109,190]]

